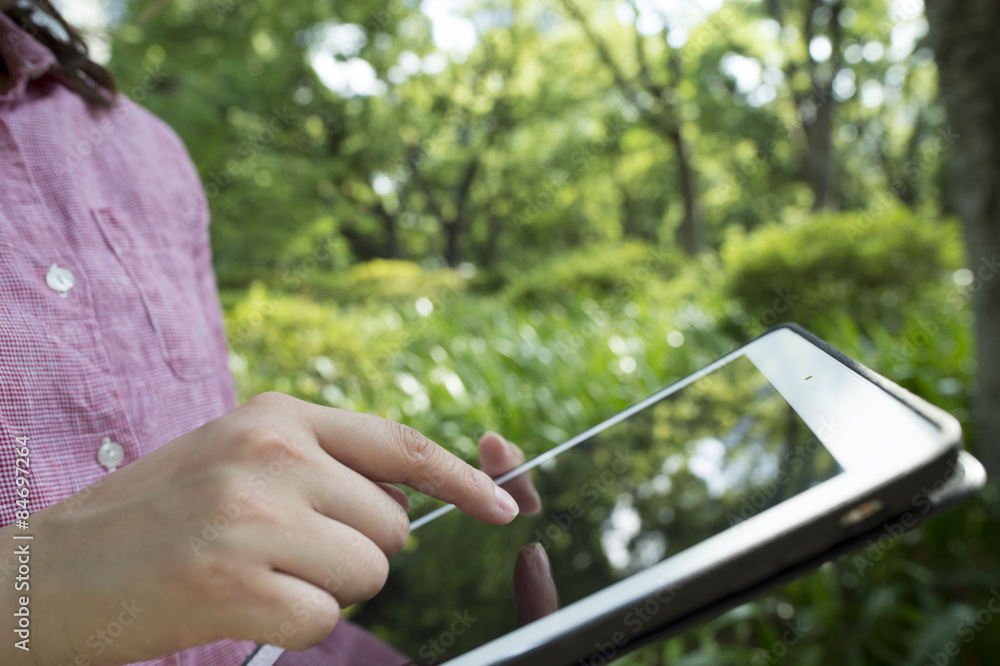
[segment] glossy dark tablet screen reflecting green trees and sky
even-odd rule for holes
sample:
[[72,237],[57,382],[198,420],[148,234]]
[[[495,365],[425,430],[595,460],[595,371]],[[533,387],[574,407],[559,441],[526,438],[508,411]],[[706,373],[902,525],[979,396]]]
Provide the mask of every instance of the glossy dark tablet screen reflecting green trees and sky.
[[[540,514],[497,527],[450,511],[415,529],[349,617],[413,659],[444,660],[515,628],[526,544],[545,547],[565,606],[840,471],[738,355],[532,470]],[[461,633],[446,631],[456,618]]]

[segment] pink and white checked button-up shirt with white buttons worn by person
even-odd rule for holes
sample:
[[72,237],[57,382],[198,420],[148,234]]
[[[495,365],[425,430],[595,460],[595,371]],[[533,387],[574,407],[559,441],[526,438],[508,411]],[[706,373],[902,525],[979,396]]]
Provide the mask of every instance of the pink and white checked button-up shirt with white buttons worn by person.
[[[225,414],[236,394],[208,206],[180,140],[126,99],[88,107],[50,71],[52,53],[3,13],[0,58],[10,74],[0,96],[0,518],[8,525],[18,510],[17,438],[29,438],[35,512]],[[12,575],[0,569],[0,584]],[[239,666],[253,648],[222,641],[148,663]],[[320,646],[277,663],[402,661],[341,622]]]

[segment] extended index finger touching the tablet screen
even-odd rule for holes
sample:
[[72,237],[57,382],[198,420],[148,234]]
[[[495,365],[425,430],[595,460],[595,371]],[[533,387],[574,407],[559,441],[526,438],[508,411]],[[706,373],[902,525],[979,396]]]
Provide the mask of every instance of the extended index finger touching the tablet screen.
[[517,515],[517,502],[493,479],[413,428],[371,414],[302,404],[320,446],[372,481],[405,484],[496,525]]

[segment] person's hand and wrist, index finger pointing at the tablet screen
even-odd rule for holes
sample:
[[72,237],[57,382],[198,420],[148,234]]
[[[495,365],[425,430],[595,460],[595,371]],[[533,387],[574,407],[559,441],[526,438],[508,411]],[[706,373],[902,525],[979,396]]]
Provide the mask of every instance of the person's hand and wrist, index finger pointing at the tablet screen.
[[[410,428],[257,396],[32,516],[31,660],[5,640],[0,661],[124,664],[223,638],[313,645],[381,589],[406,543],[406,498],[390,483],[498,525],[518,511]],[[8,618],[14,594],[0,593]]]

